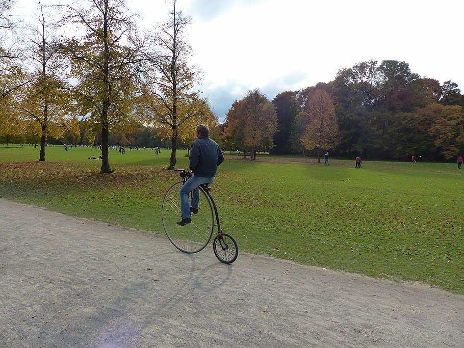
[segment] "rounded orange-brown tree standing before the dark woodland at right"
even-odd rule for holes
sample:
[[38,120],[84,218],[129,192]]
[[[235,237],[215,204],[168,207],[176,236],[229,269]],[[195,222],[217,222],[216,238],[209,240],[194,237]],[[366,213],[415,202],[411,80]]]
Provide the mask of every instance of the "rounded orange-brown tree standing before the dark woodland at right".
[[303,134],[303,144],[308,150],[329,150],[337,144],[338,124],[335,117],[335,106],[330,95],[323,90],[317,90],[308,102],[309,120]]

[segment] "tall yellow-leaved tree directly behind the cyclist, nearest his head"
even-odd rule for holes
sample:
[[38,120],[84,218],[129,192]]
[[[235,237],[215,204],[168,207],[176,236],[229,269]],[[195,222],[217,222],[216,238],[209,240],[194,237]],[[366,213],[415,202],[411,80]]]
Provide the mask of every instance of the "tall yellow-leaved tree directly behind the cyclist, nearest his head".
[[187,41],[191,18],[177,10],[172,1],[170,17],[159,25],[152,37],[156,48],[151,61],[155,75],[145,84],[139,111],[152,115],[152,123],[165,138],[171,139],[170,168],[175,168],[177,141],[191,141],[195,126],[204,123],[212,128],[217,124],[210,106],[199,92],[193,91],[200,72],[189,65],[192,49]]

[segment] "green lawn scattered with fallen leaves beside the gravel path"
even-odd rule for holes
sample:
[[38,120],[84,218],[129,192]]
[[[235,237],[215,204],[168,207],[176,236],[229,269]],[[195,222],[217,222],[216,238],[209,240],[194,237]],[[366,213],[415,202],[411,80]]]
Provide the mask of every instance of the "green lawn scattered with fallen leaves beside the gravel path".
[[[177,168],[188,167],[185,150]],[[0,197],[68,215],[164,233],[161,205],[178,181],[170,151],[110,149],[115,173],[98,174],[95,148],[0,145]],[[226,152],[212,194],[221,227],[241,251],[464,294],[464,168]],[[174,247],[173,247],[174,248]],[[214,257],[212,255],[212,257]],[[239,259],[240,262],[240,259]]]

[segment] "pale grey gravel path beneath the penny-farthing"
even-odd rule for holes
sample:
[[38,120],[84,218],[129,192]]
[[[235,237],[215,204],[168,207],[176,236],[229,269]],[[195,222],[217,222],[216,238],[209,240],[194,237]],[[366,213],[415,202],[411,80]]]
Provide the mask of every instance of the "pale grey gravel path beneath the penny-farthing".
[[2,347],[462,347],[464,296],[0,199]]

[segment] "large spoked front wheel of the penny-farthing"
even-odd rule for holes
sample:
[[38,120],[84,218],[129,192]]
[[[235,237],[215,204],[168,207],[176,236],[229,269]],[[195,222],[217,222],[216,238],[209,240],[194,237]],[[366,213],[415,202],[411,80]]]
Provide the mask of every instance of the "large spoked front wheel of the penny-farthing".
[[200,207],[197,214],[192,214],[192,222],[179,226],[177,221],[182,219],[181,197],[179,191],[182,181],[176,182],[166,192],[163,199],[162,219],[163,227],[170,242],[184,253],[197,253],[204,249],[211,240],[214,228],[213,208],[208,196],[200,190]]

